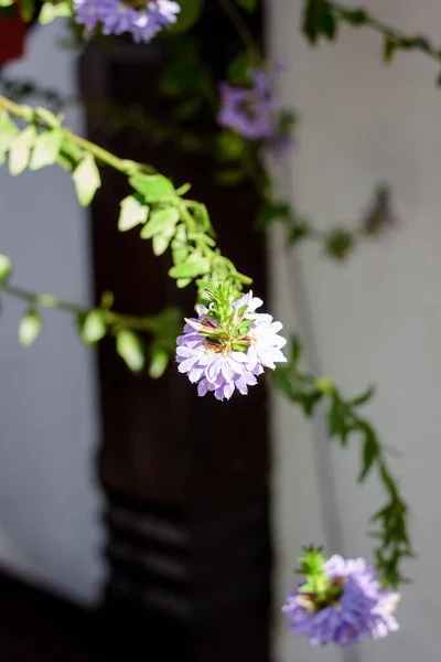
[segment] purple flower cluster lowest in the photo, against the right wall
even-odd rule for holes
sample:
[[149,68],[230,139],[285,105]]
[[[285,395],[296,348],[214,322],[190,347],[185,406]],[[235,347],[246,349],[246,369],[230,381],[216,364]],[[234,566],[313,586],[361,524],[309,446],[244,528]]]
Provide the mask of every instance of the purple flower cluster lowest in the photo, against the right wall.
[[375,570],[363,558],[345,560],[338,555],[323,564],[333,592],[323,598],[302,591],[301,581],[282,608],[288,627],[309,637],[311,645],[356,644],[363,636],[386,637],[398,630],[394,611],[399,595],[381,588]]

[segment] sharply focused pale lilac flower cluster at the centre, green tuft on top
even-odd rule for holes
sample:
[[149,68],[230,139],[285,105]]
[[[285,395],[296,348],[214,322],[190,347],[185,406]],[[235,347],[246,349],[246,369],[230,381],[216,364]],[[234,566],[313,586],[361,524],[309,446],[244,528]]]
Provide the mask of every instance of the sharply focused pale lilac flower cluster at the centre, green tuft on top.
[[229,286],[218,286],[209,308],[197,307],[197,319],[186,319],[178,338],[179,371],[197,383],[198,395],[214,392],[223,401],[237,389],[243,395],[257,384],[266,367],[286,361],[278,335],[282,324],[270,314],[256,313],[262,300],[250,291],[236,300]]

